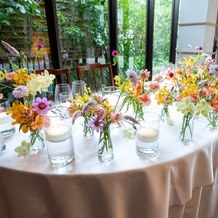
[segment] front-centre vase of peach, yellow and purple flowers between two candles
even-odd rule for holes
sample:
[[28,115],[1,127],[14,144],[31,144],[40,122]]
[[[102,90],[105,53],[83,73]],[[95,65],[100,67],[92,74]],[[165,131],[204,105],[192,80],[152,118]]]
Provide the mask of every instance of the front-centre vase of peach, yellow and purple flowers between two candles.
[[76,94],[76,99],[70,99],[69,107],[72,115],[72,123],[80,116],[87,117],[87,123],[84,126],[91,128],[93,132],[99,132],[98,157],[101,161],[113,158],[113,147],[110,137],[110,125],[112,123],[122,123],[126,121],[131,125],[138,124],[137,120],[131,116],[124,116],[120,111],[116,111],[111,106],[108,99],[99,94],[92,94],[89,88],[85,87],[84,95]]

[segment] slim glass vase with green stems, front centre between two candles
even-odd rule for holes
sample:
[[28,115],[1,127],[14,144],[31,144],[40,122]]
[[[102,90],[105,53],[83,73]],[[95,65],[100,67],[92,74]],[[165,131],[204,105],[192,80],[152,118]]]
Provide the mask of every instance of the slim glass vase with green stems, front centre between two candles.
[[98,159],[101,162],[109,162],[114,159],[113,144],[110,135],[110,125],[103,126],[98,141]]

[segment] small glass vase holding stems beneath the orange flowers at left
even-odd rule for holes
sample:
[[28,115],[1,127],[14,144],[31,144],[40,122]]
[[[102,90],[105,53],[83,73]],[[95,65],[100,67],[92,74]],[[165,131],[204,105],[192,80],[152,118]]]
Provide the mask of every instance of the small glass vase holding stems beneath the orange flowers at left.
[[44,135],[39,129],[30,133],[30,146],[33,151],[40,151],[45,148]]

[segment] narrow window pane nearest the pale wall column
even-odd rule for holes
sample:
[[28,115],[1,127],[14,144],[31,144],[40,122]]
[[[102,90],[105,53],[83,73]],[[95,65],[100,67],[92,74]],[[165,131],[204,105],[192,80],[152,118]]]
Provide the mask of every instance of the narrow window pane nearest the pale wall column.
[[[167,67],[170,51],[172,0],[156,0],[154,9],[153,74]],[[175,48],[176,49],[176,48]]]

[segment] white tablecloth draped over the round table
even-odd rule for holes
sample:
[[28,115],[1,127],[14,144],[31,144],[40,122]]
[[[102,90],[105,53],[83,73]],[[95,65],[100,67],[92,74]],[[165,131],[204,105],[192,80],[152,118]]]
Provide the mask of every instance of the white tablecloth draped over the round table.
[[16,132],[0,154],[0,217],[217,218],[218,131],[199,117],[186,146],[178,137],[182,116],[171,110],[175,125],[161,123],[159,154],[151,159],[137,156],[135,140],[114,128],[114,160],[101,163],[98,134],[85,139],[77,123],[75,161],[53,168],[46,149],[18,158],[13,150],[28,134]]

